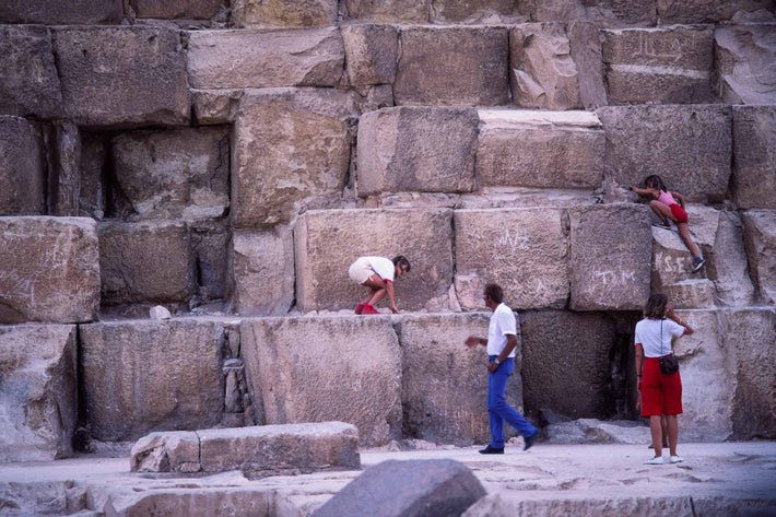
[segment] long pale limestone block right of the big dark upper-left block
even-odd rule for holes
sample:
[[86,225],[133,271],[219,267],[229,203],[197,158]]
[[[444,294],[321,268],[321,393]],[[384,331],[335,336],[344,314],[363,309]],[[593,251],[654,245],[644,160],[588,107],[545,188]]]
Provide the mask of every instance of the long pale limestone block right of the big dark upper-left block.
[[344,70],[337,27],[195,31],[188,37],[193,87],[336,86]]

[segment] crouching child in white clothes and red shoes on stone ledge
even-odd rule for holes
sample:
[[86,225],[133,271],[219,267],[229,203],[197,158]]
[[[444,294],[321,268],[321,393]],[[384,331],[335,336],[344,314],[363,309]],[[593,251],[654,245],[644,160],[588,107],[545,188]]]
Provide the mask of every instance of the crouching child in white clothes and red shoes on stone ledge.
[[375,309],[386,294],[390,302],[390,309],[393,314],[399,314],[393,297],[393,279],[402,278],[410,272],[410,261],[399,255],[393,259],[385,257],[360,257],[348,270],[348,274],[354,282],[369,289],[369,295],[355,307],[355,314],[380,314]]

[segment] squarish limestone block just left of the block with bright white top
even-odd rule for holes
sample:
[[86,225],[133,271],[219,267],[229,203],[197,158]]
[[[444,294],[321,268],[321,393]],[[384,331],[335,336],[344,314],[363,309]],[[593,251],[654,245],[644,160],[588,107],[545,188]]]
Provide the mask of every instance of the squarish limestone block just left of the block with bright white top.
[[399,106],[358,121],[358,195],[470,192],[477,109]]

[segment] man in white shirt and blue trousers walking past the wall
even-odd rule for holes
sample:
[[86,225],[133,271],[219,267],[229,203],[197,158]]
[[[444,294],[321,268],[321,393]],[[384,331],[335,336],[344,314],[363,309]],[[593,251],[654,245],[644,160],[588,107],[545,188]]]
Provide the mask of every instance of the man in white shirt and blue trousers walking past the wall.
[[515,369],[517,320],[515,313],[503,303],[504,291],[501,286],[487,284],[484,297],[485,305],[493,310],[487,339],[469,336],[466,340],[468,346],[482,344],[487,348],[487,414],[492,440],[480,454],[504,454],[505,421],[520,432],[525,439],[522,450],[528,450],[537,439],[537,428],[506,401],[506,383]]

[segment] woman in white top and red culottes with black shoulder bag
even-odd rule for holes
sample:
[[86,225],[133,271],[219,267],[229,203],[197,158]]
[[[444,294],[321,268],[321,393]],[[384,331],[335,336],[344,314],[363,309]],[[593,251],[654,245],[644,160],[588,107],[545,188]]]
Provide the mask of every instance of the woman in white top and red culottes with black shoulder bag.
[[636,324],[636,376],[642,416],[649,418],[655,457],[647,465],[662,465],[662,430],[660,418],[666,416],[668,446],[672,463],[683,461],[677,454],[679,425],[682,413],[682,378],[679,372],[666,375],[660,372],[660,357],[671,355],[671,338],[695,332],[679,319],[665,294],[652,294],[644,308],[644,319]]

